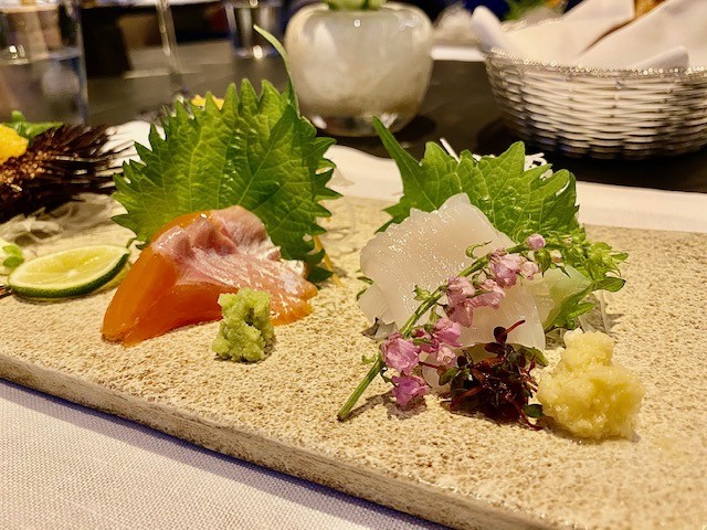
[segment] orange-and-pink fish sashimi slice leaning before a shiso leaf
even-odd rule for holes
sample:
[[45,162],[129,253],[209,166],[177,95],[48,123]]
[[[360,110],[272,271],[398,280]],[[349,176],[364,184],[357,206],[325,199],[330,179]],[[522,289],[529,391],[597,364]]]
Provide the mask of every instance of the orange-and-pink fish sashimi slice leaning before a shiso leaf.
[[273,324],[309,312],[317,288],[281,259],[261,220],[241,206],[182,215],[165,225],[118,287],[103,336],[135,344],[190,324],[218,320],[220,294],[271,295]]

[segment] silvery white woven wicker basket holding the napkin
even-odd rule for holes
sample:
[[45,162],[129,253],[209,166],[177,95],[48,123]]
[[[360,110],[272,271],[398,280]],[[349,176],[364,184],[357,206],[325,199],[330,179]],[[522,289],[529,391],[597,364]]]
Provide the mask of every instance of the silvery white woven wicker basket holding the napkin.
[[506,125],[544,150],[646,158],[707,145],[707,68],[592,70],[498,50],[486,71]]

